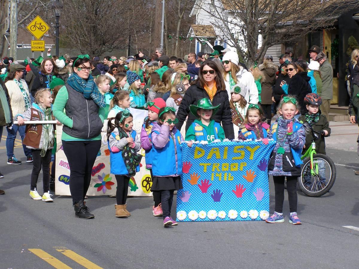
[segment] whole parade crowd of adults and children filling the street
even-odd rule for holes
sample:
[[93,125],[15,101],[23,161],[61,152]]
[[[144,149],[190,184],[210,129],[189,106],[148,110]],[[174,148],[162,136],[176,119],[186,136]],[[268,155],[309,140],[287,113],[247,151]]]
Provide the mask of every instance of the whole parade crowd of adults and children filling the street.
[[[62,124],[62,137],[57,140],[61,139],[70,166],[75,215],[93,218],[84,200],[101,147],[101,131],[106,127],[111,173],[117,181],[115,216],[131,216],[126,204],[128,184],[139,171],[142,155],[137,152],[143,148],[152,178],[151,210],[154,216],[163,216],[167,227],[177,225],[171,208],[174,191],[182,189],[181,143],[192,147],[195,141],[274,139],[268,174],[274,180],[275,212],[266,222],[284,222],[286,178],[289,222],[301,224],[297,179],[302,151],[312,141],[303,124],[322,134],[316,149],[325,154],[333,97],[330,62],[318,46],[308,53],[309,63],[296,60],[289,49],[280,56],[280,66],[266,55],[260,65],[248,67],[239,62],[237,52],[224,48],[207,54],[192,52],[183,59],[166,56],[160,48],[150,56],[139,52],[103,59],[52,56],[51,49],[47,58],[13,62],[6,57],[1,62],[0,134],[5,126],[7,164],[22,163],[14,155],[19,133],[26,162],[33,163],[29,195],[53,202],[50,181],[56,169],[56,124],[25,123],[56,120]],[[354,96],[352,123],[359,108],[358,56],[359,51],[353,51],[348,74]],[[132,129],[129,108],[148,110],[140,134]],[[41,169],[43,195],[37,189]],[[0,173],[0,177],[4,176]]]

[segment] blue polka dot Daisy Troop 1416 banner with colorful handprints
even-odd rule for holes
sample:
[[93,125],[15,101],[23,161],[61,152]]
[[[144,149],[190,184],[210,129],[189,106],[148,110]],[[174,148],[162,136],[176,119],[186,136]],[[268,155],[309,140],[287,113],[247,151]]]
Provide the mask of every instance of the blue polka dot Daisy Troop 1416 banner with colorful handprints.
[[275,141],[182,143],[183,189],[177,221],[251,221],[269,217],[267,164]]

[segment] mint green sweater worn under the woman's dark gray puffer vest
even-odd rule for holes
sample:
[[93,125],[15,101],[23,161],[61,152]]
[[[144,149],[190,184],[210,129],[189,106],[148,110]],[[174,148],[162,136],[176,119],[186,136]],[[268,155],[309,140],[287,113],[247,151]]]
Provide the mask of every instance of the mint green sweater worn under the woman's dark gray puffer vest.
[[[67,93],[67,89],[65,86],[62,86],[59,92],[56,95],[55,103],[53,104],[52,113],[54,117],[61,122],[62,124],[72,128],[73,120],[65,114],[65,106],[67,103],[67,100],[69,100],[69,93]],[[100,108],[98,110],[98,115],[102,122],[106,118],[106,112],[105,108]],[[71,141],[71,140],[81,140],[81,141],[89,141],[89,140],[101,140],[101,133],[93,138],[84,139],[84,138],[77,138],[70,135],[67,135],[67,133],[62,132],[61,140],[64,141]]]

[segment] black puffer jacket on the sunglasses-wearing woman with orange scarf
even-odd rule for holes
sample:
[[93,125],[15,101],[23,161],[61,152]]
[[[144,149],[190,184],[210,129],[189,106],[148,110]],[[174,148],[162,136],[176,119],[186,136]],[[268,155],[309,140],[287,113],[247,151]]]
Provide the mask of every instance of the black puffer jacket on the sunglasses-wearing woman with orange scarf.
[[[200,82],[197,84],[190,86],[187,89],[185,96],[183,96],[183,100],[178,108],[177,118],[178,123],[176,127],[178,130],[181,130],[183,122],[186,120],[188,115],[187,124],[186,124],[186,131],[196,119],[194,115],[190,112],[190,105],[197,105],[197,101],[202,98],[208,98],[209,95],[207,94],[206,90],[202,88]],[[220,105],[217,113],[212,116],[214,121],[221,123],[224,129],[225,137],[228,139],[234,139],[234,131],[233,131],[233,123],[232,123],[232,114],[230,112],[229,107],[229,98],[227,90],[218,89],[216,94],[213,97],[212,101],[213,105]]]

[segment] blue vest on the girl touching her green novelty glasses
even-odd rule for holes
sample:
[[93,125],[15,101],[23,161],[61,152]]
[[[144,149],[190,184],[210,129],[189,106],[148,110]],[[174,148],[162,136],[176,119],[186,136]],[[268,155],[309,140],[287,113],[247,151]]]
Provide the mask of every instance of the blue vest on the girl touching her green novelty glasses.
[[[152,131],[159,134],[159,131]],[[174,134],[176,140],[176,151],[174,141],[169,137],[169,141],[163,148],[153,148],[152,152],[152,174],[154,176],[169,176],[182,174],[182,154],[181,154],[181,133],[179,130]],[[177,152],[177,168],[176,168]]]

